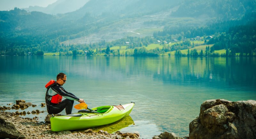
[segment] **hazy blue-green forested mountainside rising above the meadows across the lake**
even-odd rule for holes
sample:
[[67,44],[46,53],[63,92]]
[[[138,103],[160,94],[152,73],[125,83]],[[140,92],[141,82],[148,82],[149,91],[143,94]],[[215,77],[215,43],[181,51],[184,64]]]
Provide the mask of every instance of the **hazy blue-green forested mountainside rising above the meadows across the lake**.
[[215,44],[215,49],[249,55],[255,49],[255,3],[90,0],[77,11],[58,15],[15,8],[0,11],[0,54],[89,50],[127,45],[126,42],[127,48],[136,48],[158,43],[157,40],[164,44],[212,35],[214,38],[205,43]]

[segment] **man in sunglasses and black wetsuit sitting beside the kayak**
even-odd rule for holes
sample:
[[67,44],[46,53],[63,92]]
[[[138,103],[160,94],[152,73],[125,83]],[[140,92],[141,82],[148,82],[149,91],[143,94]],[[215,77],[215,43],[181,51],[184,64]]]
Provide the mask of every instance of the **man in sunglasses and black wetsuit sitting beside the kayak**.
[[[77,98],[74,94],[66,91],[62,85],[67,81],[67,75],[64,73],[59,73],[57,75],[57,81],[51,80],[46,84],[46,94],[45,94],[45,102],[47,106],[47,112],[49,114],[57,114],[60,113],[64,108],[66,110],[66,114],[71,114],[74,100],[83,103],[84,99]],[[66,98],[63,101],[62,97]]]

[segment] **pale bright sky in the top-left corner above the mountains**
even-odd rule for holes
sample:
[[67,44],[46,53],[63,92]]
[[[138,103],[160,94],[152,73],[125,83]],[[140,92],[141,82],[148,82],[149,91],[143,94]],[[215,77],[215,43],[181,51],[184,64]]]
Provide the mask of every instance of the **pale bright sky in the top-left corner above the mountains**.
[[0,11],[10,11],[14,7],[28,8],[29,6],[47,7],[57,0],[0,0]]

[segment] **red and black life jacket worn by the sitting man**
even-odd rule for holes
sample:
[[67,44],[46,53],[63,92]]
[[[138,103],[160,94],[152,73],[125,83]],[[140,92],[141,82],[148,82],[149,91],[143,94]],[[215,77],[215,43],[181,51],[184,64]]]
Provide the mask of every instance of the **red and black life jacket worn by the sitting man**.
[[54,85],[57,85],[56,81],[54,81],[54,80],[51,80],[47,84],[45,84],[45,88],[47,88],[45,100],[50,101],[53,104],[59,104],[62,100],[61,95],[59,95],[58,93],[56,95],[53,95],[53,96],[48,95],[49,88],[54,86]]

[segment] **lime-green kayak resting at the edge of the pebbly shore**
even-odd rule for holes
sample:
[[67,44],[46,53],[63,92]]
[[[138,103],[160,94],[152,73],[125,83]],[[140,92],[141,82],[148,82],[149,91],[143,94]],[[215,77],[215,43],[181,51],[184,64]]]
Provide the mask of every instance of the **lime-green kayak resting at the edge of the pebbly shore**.
[[99,106],[92,110],[99,113],[92,113],[88,110],[80,110],[78,113],[51,117],[51,130],[79,130],[85,128],[107,125],[128,116],[134,103],[117,106]]

